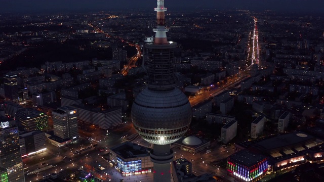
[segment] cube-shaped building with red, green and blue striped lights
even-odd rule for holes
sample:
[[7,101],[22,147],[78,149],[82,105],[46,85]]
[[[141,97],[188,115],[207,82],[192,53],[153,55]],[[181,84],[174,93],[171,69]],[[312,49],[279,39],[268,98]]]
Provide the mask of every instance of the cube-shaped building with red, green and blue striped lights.
[[258,181],[267,173],[268,157],[241,150],[227,158],[226,169],[238,179]]

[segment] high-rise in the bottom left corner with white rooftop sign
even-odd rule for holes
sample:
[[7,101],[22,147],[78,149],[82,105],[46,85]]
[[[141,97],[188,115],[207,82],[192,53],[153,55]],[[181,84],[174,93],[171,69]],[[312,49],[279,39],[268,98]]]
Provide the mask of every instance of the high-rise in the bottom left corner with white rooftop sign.
[[19,130],[9,121],[0,123],[0,179],[24,182],[24,171],[19,146]]

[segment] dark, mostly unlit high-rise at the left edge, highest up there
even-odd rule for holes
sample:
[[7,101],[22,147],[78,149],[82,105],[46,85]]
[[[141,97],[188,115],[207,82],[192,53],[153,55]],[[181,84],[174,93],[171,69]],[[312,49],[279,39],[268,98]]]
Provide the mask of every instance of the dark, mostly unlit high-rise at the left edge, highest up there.
[[7,101],[18,103],[17,75],[8,73],[4,76],[5,97]]

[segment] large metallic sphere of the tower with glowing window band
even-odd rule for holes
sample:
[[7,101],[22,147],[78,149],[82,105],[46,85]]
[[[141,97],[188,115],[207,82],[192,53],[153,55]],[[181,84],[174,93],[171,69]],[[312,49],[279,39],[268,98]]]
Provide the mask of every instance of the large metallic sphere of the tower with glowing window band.
[[178,88],[163,91],[145,88],[134,101],[132,122],[145,141],[172,144],[188,130],[191,106]]

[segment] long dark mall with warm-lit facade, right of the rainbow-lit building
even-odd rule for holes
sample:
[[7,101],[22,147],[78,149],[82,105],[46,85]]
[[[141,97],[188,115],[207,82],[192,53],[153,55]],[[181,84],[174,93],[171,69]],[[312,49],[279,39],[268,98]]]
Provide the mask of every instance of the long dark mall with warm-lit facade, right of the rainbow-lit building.
[[[318,146],[314,136],[304,132],[278,134],[261,140],[235,144],[235,151],[247,149],[268,156],[268,173],[291,169],[306,162],[310,148]],[[320,156],[314,153],[314,156]]]

